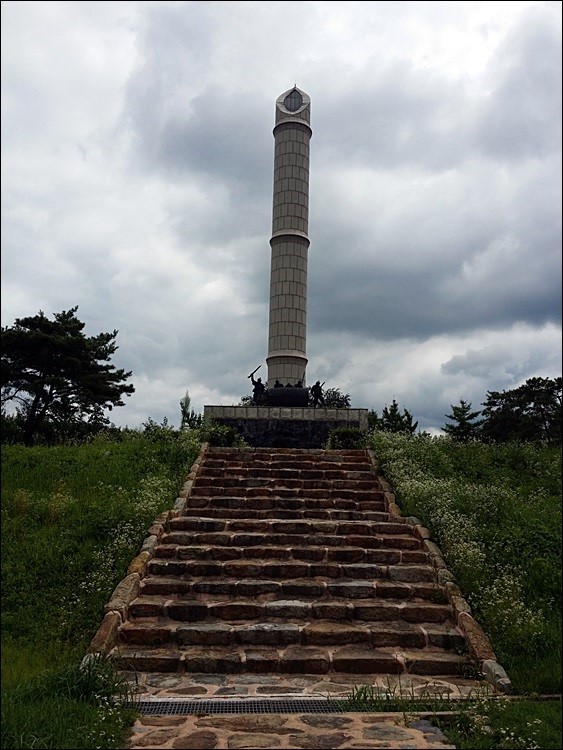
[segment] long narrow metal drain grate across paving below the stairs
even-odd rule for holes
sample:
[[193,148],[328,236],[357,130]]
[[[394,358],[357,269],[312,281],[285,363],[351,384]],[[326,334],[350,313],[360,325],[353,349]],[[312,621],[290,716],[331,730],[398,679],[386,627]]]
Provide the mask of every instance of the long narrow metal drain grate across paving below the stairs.
[[341,713],[344,711],[338,701],[328,699],[239,699],[227,700],[161,700],[139,701],[136,708],[145,715],[188,714],[318,714]]

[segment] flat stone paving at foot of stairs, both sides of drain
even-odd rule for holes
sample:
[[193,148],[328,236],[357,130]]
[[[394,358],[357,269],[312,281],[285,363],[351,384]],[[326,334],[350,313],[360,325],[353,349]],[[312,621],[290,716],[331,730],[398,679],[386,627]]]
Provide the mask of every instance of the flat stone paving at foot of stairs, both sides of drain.
[[[346,698],[354,687],[369,684],[382,695],[425,695],[452,701],[485,689],[475,680],[428,679],[394,675],[217,675],[140,673],[130,675],[141,701],[213,699],[256,700]],[[232,704],[231,704],[232,705]],[[135,722],[129,750],[160,748],[395,748],[448,750],[442,732],[424,716],[399,713],[229,713],[141,716]]]

